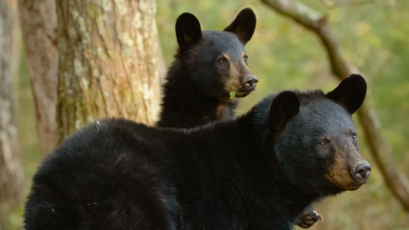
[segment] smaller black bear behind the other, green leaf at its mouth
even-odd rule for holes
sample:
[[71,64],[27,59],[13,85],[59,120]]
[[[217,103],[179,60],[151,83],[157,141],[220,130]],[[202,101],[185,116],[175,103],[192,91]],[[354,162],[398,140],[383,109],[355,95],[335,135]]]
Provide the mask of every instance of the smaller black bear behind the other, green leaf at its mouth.
[[166,76],[157,125],[190,128],[232,118],[235,98],[251,93],[258,82],[244,50],[256,27],[253,10],[241,10],[224,31],[202,31],[191,13],[181,14],[175,27],[179,48]]

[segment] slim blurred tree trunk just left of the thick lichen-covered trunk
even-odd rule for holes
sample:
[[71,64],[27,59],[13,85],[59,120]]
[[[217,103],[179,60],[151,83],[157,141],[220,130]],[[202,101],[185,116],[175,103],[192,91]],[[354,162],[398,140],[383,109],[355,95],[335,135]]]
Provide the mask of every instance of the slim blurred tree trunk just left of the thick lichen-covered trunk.
[[40,151],[46,154],[56,147],[58,141],[55,0],[18,0],[18,11],[30,69]]

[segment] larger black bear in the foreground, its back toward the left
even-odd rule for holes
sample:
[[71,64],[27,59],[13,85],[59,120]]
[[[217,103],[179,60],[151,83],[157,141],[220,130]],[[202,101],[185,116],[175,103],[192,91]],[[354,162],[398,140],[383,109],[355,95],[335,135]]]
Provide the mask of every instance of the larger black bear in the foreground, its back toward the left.
[[311,202],[368,181],[351,119],[365,95],[351,75],[193,129],[96,122],[39,167],[25,227],[292,229]]

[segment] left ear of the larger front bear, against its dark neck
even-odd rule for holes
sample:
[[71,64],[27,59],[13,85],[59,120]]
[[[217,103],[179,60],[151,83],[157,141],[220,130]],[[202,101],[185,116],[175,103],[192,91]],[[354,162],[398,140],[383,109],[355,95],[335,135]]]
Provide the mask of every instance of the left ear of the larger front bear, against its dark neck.
[[285,124],[300,111],[300,100],[293,91],[282,91],[271,102],[269,125],[275,131],[284,128]]

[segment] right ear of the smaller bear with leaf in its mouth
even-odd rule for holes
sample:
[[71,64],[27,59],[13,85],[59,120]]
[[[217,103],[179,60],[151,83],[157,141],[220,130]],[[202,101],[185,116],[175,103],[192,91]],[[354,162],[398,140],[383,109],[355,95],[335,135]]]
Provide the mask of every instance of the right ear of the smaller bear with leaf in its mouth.
[[245,8],[239,12],[230,26],[224,28],[224,31],[236,34],[239,40],[246,44],[252,38],[255,29],[256,15],[252,9]]

